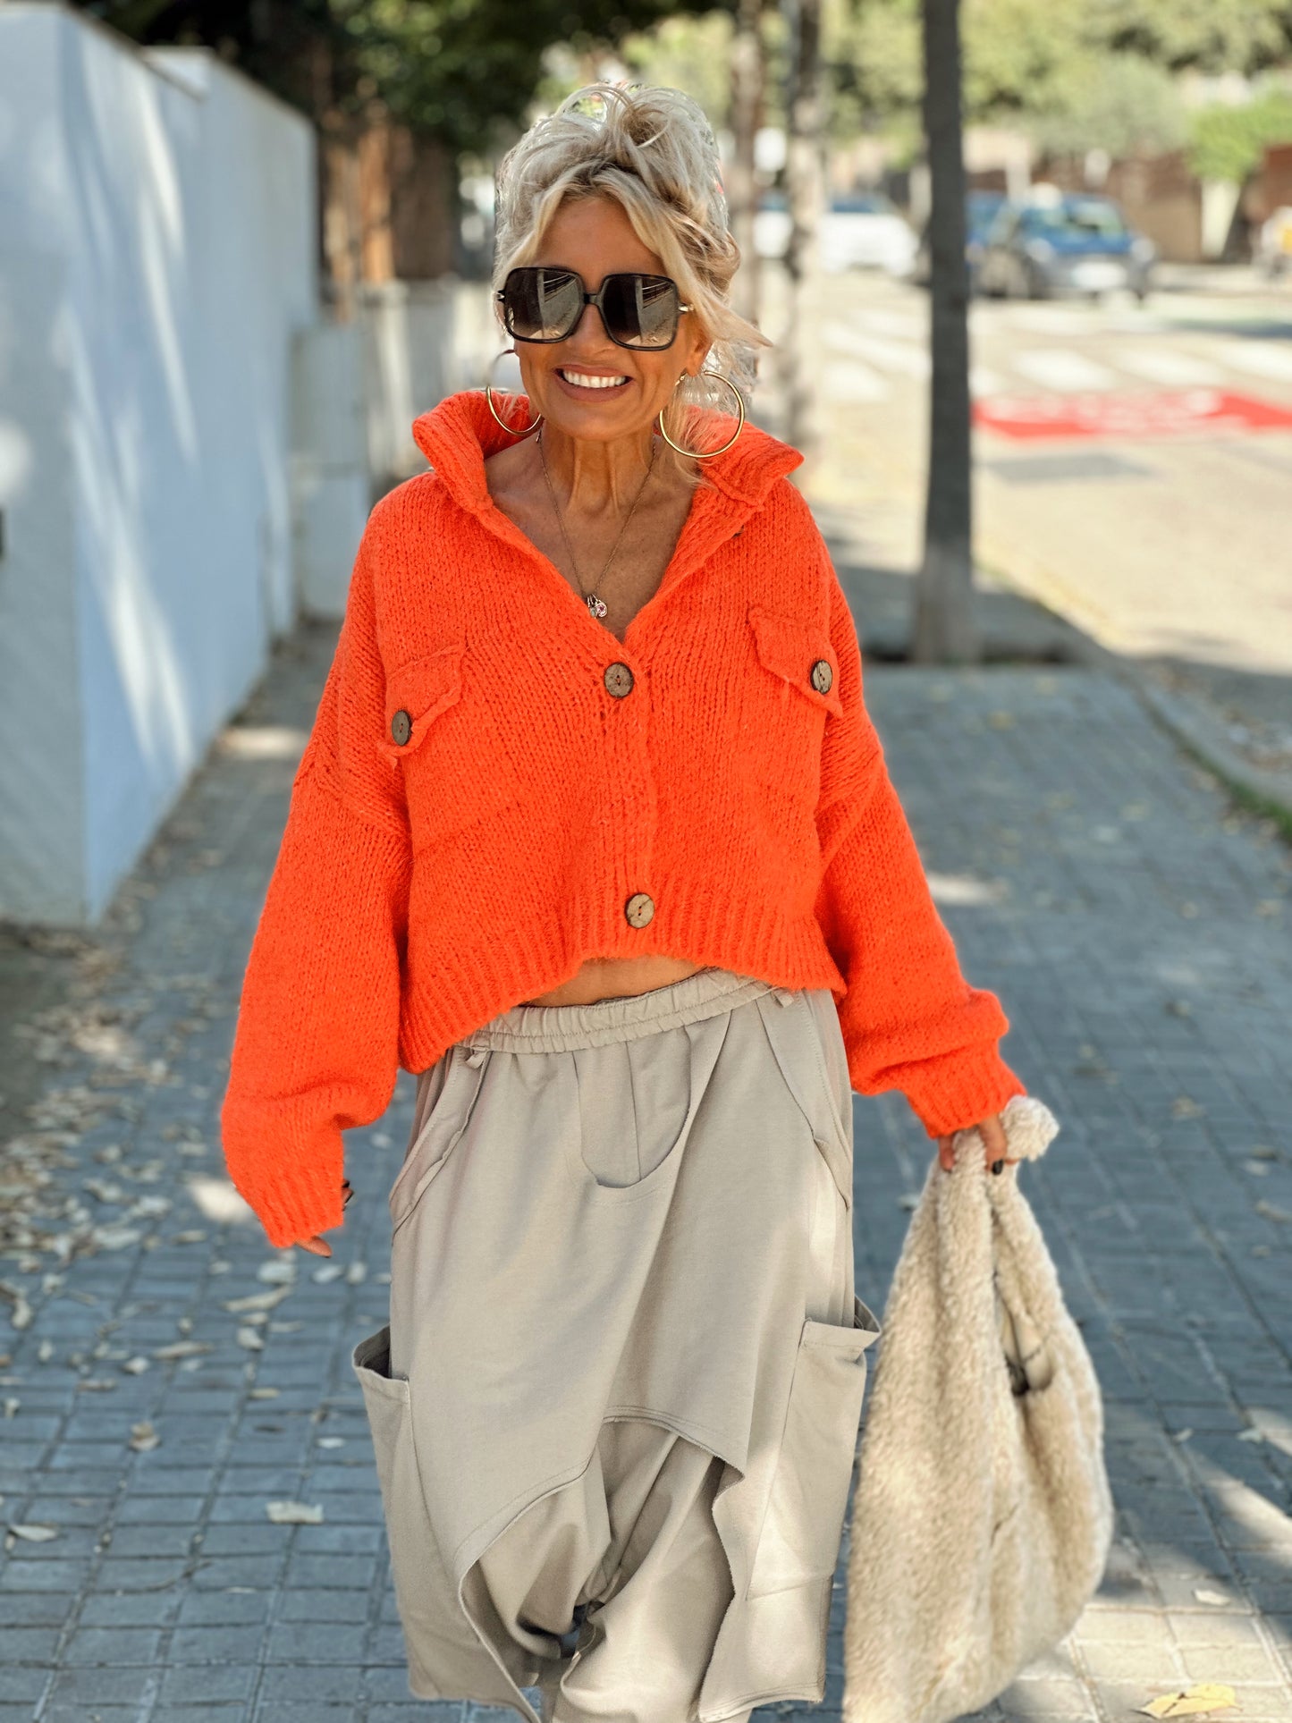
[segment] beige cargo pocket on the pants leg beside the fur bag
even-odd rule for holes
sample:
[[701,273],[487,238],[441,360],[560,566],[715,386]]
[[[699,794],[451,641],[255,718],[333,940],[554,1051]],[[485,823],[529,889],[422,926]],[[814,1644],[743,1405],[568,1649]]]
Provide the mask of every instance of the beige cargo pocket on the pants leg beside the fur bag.
[[879,1334],[879,1320],[860,1297],[853,1299],[851,1325],[811,1316],[803,1323],[749,1597],[834,1573],[867,1387],[867,1347]]

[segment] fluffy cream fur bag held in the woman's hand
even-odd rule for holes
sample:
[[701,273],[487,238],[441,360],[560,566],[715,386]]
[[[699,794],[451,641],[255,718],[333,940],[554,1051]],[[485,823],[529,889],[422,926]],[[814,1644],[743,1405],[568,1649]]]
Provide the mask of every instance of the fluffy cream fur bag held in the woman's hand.
[[[1001,1110],[1009,1156],[1058,1120]],[[844,1723],[947,1723],[1075,1623],[1104,1573],[1104,1413],[1018,1166],[934,1156],[884,1309],[848,1554]]]

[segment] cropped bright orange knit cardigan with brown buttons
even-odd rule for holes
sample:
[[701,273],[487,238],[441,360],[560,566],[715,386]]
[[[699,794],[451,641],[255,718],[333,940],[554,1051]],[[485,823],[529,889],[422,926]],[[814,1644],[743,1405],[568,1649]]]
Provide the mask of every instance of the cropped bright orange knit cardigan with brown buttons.
[[413,434],[432,470],[363,532],[243,982],[224,1156],[270,1242],[339,1225],[341,1132],[400,1068],[589,956],[830,987],[853,1087],[930,1137],[1027,1092],[929,894],[803,457],[748,426],[706,463],[620,643],[491,501],[482,395]]

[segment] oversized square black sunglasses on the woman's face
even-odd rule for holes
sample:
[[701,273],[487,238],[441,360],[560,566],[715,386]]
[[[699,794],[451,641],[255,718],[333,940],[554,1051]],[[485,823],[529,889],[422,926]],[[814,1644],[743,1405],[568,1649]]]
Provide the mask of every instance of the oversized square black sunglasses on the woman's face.
[[617,346],[660,350],[672,346],[677,319],[689,312],[670,276],[641,271],[606,276],[589,293],[574,269],[527,264],[513,269],[494,298],[503,307],[503,326],[517,341],[565,341],[574,334],[584,305],[596,305],[601,324]]

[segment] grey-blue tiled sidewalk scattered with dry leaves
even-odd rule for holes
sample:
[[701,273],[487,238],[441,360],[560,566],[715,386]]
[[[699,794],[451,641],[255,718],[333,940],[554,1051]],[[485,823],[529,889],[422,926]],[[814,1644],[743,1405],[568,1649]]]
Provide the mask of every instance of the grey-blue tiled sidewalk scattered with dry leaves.
[[[308,727],[331,643],[312,627],[279,655],[96,939],[117,965],[91,951],[81,998],[36,1025],[64,1063],[0,1179],[48,1172],[33,1204],[67,1208],[29,1225],[67,1261],[0,1265],[0,1520],[57,1535],[5,1537],[0,1723],[486,1716],[407,1692],[348,1359],[386,1316],[412,1079],[348,1137],[331,1261],[270,1249],[222,1184],[293,774],[274,727]],[[1128,1718],[1214,1680],[1239,1699],[1216,1716],[1292,1720],[1292,858],[1099,672],[867,686],[965,970],[1063,1125],[1023,1179],[1106,1394],[1115,1561],[991,1714]],[[932,1146],[901,1096],[856,1108],[858,1291],[880,1309]],[[276,1499],[322,1523],[270,1523]],[[842,1587],[827,1702],[773,1711],[839,1716],[841,1627]]]

